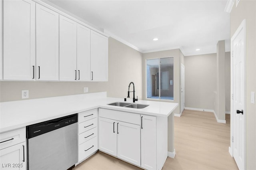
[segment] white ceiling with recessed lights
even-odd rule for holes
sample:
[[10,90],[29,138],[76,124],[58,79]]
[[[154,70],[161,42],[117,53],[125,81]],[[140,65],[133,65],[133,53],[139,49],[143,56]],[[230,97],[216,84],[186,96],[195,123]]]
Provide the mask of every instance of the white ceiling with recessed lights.
[[227,0],[48,1],[142,53],[176,48],[185,56],[216,53],[219,40],[230,51]]

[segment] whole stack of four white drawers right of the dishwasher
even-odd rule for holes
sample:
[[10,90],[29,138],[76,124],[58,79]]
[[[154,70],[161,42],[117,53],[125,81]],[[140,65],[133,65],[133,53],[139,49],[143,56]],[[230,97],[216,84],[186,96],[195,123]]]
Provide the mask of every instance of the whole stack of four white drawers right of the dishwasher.
[[78,163],[98,150],[98,109],[78,113]]

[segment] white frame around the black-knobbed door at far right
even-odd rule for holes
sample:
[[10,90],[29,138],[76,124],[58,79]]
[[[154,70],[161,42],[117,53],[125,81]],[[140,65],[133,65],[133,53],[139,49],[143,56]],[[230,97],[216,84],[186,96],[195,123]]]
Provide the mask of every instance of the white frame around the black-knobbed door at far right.
[[241,30],[244,30],[244,169],[246,169],[246,20],[244,19],[236,32],[230,39],[231,50],[230,50],[230,147],[228,151],[233,157],[233,134],[234,134],[234,105],[233,105],[233,40],[238,36]]

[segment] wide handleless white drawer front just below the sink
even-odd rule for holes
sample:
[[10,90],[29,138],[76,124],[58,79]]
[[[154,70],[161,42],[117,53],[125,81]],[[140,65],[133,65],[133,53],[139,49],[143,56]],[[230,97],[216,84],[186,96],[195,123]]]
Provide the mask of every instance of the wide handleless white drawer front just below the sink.
[[99,117],[140,125],[140,114],[99,109]]

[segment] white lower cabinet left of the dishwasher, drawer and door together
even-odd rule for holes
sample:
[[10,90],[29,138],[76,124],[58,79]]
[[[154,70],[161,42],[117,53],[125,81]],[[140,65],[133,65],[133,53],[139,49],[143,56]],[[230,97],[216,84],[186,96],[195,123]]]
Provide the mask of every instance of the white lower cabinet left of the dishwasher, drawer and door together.
[[0,169],[26,170],[26,128],[0,134]]

